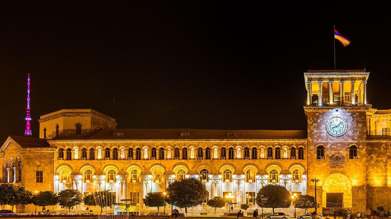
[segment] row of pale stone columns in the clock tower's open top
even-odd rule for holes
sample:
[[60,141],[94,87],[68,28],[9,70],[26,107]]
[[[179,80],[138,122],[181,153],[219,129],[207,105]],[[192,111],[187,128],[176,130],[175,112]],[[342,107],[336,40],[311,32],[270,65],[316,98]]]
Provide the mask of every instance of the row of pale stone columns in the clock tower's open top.
[[[340,105],[344,105],[344,83],[345,81],[339,81],[339,84],[340,84],[340,87],[341,87],[341,104]],[[351,89],[350,89],[350,96],[351,96],[351,100],[352,100],[352,104],[354,105],[355,104],[355,93],[354,93],[354,85],[355,85],[356,81],[350,81],[350,84],[351,84]],[[362,92],[363,92],[363,98],[364,98],[364,105],[366,105],[366,83],[367,81],[362,81]],[[329,102],[330,102],[330,105],[333,104],[333,84],[334,84],[334,81],[328,81],[328,84],[329,84]],[[318,106],[321,107],[323,105],[323,92],[322,92],[322,85],[323,85],[323,81],[318,81]],[[307,81],[307,105],[311,105],[312,104],[312,81]]]

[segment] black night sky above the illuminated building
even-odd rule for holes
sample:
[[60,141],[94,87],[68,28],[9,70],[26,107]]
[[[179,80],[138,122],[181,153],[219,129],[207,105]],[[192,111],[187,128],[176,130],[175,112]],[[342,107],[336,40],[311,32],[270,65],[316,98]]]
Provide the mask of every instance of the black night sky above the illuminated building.
[[0,2],[0,142],[23,135],[28,72],[34,136],[40,115],[65,108],[118,128],[306,129],[303,72],[334,67],[333,25],[352,42],[335,42],[337,69],[365,67],[368,102],[391,108],[390,19],[378,3],[10,2]]

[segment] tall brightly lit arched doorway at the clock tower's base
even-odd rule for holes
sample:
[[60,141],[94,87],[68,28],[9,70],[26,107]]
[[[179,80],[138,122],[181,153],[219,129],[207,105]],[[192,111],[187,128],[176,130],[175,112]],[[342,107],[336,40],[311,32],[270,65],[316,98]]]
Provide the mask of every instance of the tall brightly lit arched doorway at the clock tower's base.
[[352,209],[352,184],[343,174],[331,174],[322,186],[323,208]]

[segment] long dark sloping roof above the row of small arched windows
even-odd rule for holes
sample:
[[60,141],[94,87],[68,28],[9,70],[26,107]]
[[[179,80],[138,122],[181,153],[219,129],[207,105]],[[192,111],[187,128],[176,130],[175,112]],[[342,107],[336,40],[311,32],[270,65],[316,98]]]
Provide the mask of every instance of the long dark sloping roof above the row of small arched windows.
[[[114,133],[117,132],[117,136]],[[181,136],[180,133],[188,133]],[[235,133],[229,136],[228,133]],[[101,129],[56,139],[305,139],[307,130]]]

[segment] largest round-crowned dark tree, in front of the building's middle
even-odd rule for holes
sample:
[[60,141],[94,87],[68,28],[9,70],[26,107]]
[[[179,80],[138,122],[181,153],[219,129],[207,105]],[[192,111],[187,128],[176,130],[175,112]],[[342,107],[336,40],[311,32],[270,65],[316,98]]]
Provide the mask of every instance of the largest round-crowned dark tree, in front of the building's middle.
[[194,178],[174,181],[167,188],[167,202],[171,205],[187,208],[201,205],[208,196],[208,191],[201,181]]

